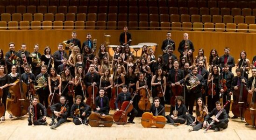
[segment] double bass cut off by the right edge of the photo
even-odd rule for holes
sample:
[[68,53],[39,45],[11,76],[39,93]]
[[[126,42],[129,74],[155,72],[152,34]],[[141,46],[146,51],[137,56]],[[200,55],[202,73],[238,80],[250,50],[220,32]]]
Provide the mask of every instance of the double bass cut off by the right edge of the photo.
[[[256,88],[256,83],[254,84],[254,88]],[[253,89],[254,90],[254,89]],[[256,92],[248,93],[247,104],[249,105],[246,111],[244,112],[245,121],[256,128]]]

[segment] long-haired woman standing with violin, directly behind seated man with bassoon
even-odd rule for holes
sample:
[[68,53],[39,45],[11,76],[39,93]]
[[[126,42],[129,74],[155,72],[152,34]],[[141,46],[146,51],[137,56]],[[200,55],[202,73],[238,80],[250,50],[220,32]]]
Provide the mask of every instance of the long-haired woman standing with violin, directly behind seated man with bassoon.
[[[209,76],[208,76],[208,109],[209,109],[209,112],[211,112],[214,108],[214,104],[216,101],[219,101],[220,100],[220,92],[223,93],[224,90],[222,89],[221,85],[220,85],[220,77],[219,77],[219,69],[218,69],[218,66],[215,65],[213,66],[213,69],[211,71],[211,73],[209,73]],[[215,85],[215,88],[214,88],[214,85]],[[210,86],[213,86],[212,88]],[[213,91],[211,92],[210,90]],[[215,92],[215,95],[214,93]],[[213,94],[213,95],[209,95],[210,94]]]

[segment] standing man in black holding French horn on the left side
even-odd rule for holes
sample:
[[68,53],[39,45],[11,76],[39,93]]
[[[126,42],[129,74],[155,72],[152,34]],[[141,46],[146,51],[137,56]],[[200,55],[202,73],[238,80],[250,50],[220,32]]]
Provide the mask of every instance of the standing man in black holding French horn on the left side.
[[[47,73],[47,66],[42,65],[41,66],[41,73],[36,76],[36,86],[40,86],[38,88],[35,88],[36,93],[39,96],[39,101],[42,103],[46,108],[48,107],[48,96],[49,96],[49,86],[48,86],[48,77],[50,75]],[[40,81],[43,81],[43,83],[38,83]],[[43,85],[40,85],[43,84]]]

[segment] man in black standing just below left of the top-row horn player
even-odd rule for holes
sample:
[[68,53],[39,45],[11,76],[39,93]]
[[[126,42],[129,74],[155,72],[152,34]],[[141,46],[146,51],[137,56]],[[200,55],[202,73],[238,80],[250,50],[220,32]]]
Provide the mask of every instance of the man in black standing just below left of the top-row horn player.
[[67,53],[63,49],[63,44],[58,44],[58,50],[53,53],[53,59],[54,59],[54,68],[57,70],[58,66],[63,63],[63,58],[68,58]]

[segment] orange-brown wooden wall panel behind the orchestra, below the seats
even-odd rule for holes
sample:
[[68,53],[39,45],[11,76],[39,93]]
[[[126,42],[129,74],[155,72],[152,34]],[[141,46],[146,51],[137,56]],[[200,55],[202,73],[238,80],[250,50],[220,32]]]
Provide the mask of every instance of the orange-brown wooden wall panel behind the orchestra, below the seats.
[[[0,31],[1,49],[4,53],[8,51],[8,43],[15,43],[15,50],[20,49],[21,43],[27,44],[28,51],[33,51],[33,45],[38,43],[40,52],[46,46],[51,47],[51,51],[57,50],[57,44],[71,38],[72,30],[3,30]],[[86,34],[91,33],[92,39],[97,39],[98,46],[105,42],[104,34],[111,35],[110,42],[112,45],[119,44],[119,35],[122,30],[76,30],[77,37],[81,43],[86,40]],[[166,32],[162,30],[129,30],[132,34],[132,45],[141,42],[154,42],[158,44],[156,56],[162,54],[161,45],[166,38]],[[215,48],[219,56],[224,54],[224,47],[231,48],[230,54],[235,57],[235,61],[239,58],[241,50],[247,52],[249,60],[256,55],[256,34],[255,33],[230,33],[230,32],[198,32],[186,31],[189,34],[189,39],[192,40],[195,46],[194,56],[197,56],[198,49],[203,48],[205,55],[209,57],[210,50]],[[171,38],[175,41],[176,50],[174,54],[179,56],[178,45],[183,39],[185,31],[171,31]]]

